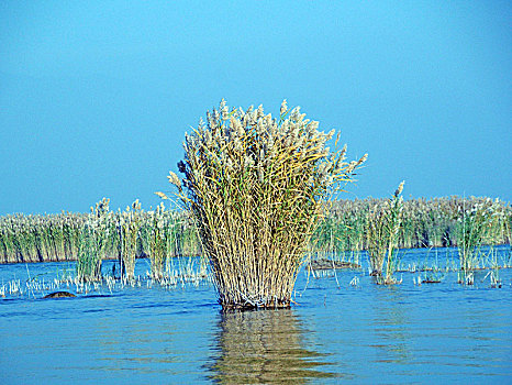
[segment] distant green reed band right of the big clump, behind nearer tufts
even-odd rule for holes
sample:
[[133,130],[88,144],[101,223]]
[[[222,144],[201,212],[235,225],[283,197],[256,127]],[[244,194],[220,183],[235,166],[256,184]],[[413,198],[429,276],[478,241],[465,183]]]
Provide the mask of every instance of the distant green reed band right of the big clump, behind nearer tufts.
[[[371,212],[383,210],[388,199],[336,200],[330,215],[313,234],[313,252],[335,254],[338,258],[357,258],[368,250],[368,221]],[[465,221],[470,212],[486,208],[488,220],[482,228],[482,244],[510,244],[512,208],[510,204],[487,197],[444,197],[403,201],[397,248],[457,248],[464,244]],[[465,219],[466,218],[466,219]]]

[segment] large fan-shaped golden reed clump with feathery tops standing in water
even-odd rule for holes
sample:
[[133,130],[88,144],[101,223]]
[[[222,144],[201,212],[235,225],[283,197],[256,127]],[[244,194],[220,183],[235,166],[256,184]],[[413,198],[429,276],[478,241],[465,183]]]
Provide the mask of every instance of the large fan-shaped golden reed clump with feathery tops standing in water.
[[[324,202],[358,162],[326,147],[334,130],[281,105],[231,111],[222,101],[188,135],[169,180],[199,230],[223,308],[288,307]],[[337,144],[337,140],[336,140]]]

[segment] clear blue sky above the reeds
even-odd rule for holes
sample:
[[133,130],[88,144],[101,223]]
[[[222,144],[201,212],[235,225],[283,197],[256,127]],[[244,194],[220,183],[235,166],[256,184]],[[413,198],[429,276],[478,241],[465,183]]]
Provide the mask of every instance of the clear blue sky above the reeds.
[[346,198],[512,200],[509,1],[2,1],[0,215],[159,202],[186,131],[283,98],[369,154]]

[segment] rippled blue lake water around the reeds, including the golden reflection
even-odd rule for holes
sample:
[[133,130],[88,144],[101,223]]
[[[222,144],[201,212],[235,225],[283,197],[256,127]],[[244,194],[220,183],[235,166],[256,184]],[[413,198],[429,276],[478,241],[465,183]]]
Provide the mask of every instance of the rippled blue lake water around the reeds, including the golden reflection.
[[[407,251],[402,263],[444,264],[446,255]],[[0,284],[48,282],[66,267],[74,264],[2,265]],[[137,274],[148,268],[137,261]],[[293,308],[230,314],[208,282],[169,289],[142,280],[62,299],[5,293],[0,383],[510,384],[512,270],[500,270],[501,288],[488,273],[472,286],[457,284],[457,273],[421,286],[413,278],[425,273],[398,273],[401,285],[379,286],[363,270],[320,278],[302,270]]]

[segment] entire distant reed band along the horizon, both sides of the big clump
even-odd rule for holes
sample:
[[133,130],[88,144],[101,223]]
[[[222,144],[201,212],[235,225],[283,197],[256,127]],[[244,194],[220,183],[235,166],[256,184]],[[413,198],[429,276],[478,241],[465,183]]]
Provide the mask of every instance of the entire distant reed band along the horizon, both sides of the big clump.
[[[368,249],[368,220],[386,199],[337,200],[313,234],[312,252],[354,252]],[[398,235],[400,249],[459,246],[464,233],[464,218],[478,208],[486,208],[487,221],[483,244],[510,244],[512,208],[490,198],[434,198],[405,200],[403,220]],[[116,231],[122,212],[110,211],[107,217],[105,258],[119,258],[121,237]],[[137,257],[149,254],[155,230],[154,211],[137,213],[141,220],[135,242]],[[162,221],[176,240],[170,256],[200,255],[197,230],[183,213],[163,211]],[[8,215],[0,217],[0,263],[76,261],[84,229],[93,213],[62,212],[57,215]],[[162,226],[162,224],[160,224]]]

